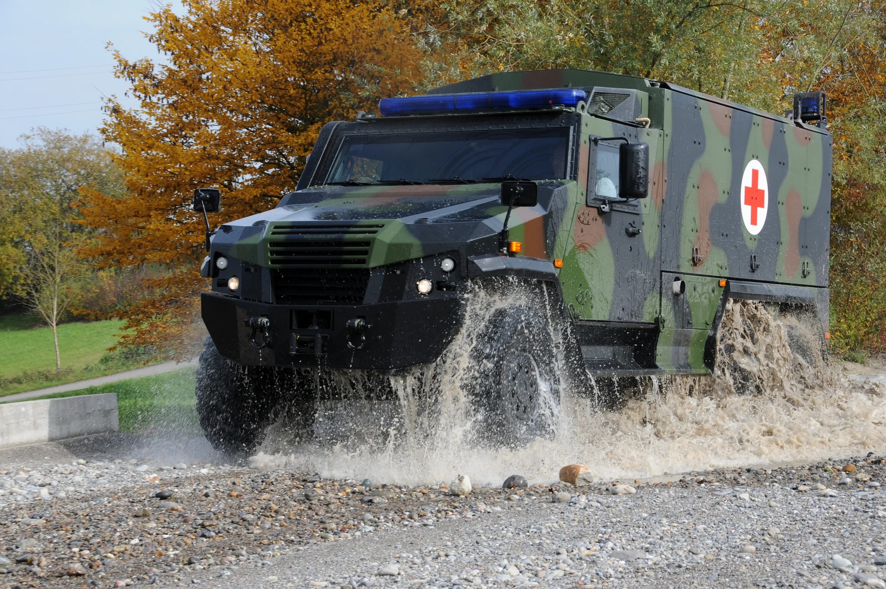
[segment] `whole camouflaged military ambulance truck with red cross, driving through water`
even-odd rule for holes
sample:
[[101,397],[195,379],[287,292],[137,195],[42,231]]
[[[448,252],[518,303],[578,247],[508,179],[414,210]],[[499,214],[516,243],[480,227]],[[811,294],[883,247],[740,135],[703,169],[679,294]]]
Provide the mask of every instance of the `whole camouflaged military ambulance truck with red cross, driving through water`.
[[[327,123],[276,208],[211,233],[207,222],[206,436],[250,452],[287,390],[310,419],[321,373],[438,362],[476,319],[472,289],[502,281],[549,304],[482,318],[495,345],[471,361],[488,368],[478,396],[529,435],[544,433],[540,390],[561,386],[560,333],[590,374],[709,373],[732,298],[809,311],[823,345],[825,108],[821,92],[780,116],[562,69],[384,98],[377,114]],[[220,199],[198,189],[194,208]]]

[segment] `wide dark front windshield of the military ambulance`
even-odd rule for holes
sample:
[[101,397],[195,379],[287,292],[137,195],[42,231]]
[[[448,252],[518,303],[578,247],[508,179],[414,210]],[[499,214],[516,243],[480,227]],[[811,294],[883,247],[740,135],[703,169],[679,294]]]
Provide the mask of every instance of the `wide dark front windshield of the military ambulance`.
[[326,184],[438,184],[566,177],[569,128],[346,136]]

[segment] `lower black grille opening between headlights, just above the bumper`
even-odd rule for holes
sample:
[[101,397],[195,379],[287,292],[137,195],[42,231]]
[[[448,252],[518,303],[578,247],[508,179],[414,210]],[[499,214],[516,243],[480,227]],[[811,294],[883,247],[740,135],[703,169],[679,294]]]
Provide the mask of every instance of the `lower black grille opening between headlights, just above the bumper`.
[[296,305],[359,305],[369,284],[369,268],[277,268],[271,276],[276,302]]

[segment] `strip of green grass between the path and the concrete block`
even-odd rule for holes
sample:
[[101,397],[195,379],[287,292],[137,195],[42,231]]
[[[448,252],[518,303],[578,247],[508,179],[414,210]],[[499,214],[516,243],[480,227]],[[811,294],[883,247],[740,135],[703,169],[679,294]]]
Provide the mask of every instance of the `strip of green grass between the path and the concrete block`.
[[170,431],[202,435],[196,410],[197,398],[194,397],[195,373],[196,369],[189,367],[37,398],[117,393],[120,431],[146,436]]

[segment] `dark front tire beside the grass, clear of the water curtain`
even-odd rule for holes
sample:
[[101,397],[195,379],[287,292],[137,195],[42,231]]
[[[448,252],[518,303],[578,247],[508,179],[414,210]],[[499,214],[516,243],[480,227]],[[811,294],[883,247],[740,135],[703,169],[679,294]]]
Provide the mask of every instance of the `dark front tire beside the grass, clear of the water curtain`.
[[197,413],[213,448],[232,456],[255,452],[275,418],[287,377],[280,369],[237,365],[206,338],[197,368]]

